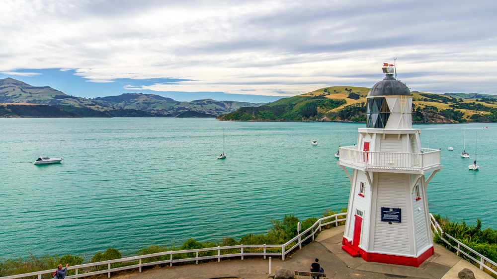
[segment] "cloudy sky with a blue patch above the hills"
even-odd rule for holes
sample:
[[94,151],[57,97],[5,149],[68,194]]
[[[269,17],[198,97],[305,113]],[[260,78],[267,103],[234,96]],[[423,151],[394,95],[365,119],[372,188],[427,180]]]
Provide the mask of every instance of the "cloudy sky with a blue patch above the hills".
[[0,78],[264,101],[371,87],[397,57],[411,90],[495,94],[496,12],[495,0],[2,0]]

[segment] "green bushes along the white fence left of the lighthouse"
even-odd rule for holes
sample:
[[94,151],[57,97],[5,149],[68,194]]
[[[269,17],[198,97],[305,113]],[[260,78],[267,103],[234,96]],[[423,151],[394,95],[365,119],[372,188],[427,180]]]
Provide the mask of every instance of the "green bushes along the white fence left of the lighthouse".
[[[325,209],[322,211],[322,217],[326,216],[331,216],[336,213],[344,213],[347,212],[347,209],[343,208],[340,211],[333,211],[331,209]],[[333,217],[332,220],[334,220],[335,217]],[[344,216],[338,216],[338,219],[344,219]],[[217,246],[234,246],[234,245],[239,245],[239,244],[244,244],[244,245],[259,245],[259,244],[284,244],[293,237],[295,237],[297,233],[297,223],[300,221],[301,222],[301,231],[304,231],[311,227],[317,220],[318,218],[316,217],[311,217],[307,218],[303,221],[299,220],[299,218],[295,217],[294,214],[288,214],[283,217],[282,220],[276,220],[276,219],[269,219],[271,222],[271,227],[268,229],[267,233],[265,234],[248,234],[244,235],[240,238],[239,241],[235,240],[232,237],[226,237],[221,239],[220,242],[198,242],[192,238],[186,240],[181,246],[176,246],[174,244],[171,244],[170,246],[160,246],[160,245],[151,245],[149,247],[143,247],[141,249],[138,249],[138,251],[135,252],[135,255],[125,255],[125,256],[138,256],[138,255],[148,255],[148,254],[154,254],[154,253],[160,253],[160,252],[166,252],[166,251],[178,251],[178,250],[190,250],[190,249],[201,249],[201,248],[209,248],[209,247],[217,247]],[[344,225],[345,224],[345,219],[343,221],[338,222],[338,225]],[[331,228],[332,225],[325,226],[325,228]],[[309,235],[310,232],[307,234]],[[303,245],[307,245],[311,242],[309,239]],[[290,245],[294,245],[295,243],[292,243]],[[229,250],[223,250],[222,254],[231,254],[231,253],[238,253],[236,251],[230,251],[230,250],[238,250],[240,252],[240,249],[229,249]],[[257,252],[262,252],[259,251],[261,249],[257,248],[245,248],[244,253],[257,253]],[[267,252],[281,252],[280,248],[266,248]],[[200,252],[199,256],[211,256],[214,255],[213,253],[216,253],[217,251],[205,251],[205,252]],[[174,254],[173,259],[185,259],[185,258],[191,258],[194,257],[194,253],[183,253],[183,254]],[[247,255],[249,256],[249,255]],[[18,258],[0,258],[0,277],[5,277],[5,276],[11,276],[11,275],[17,275],[17,274],[24,274],[24,273],[30,273],[30,272],[37,272],[37,271],[43,271],[43,270],[51,270],[57,268],[57,265],[59,263],[69,264],[69,266],[75,266],[75,265],[81,265],[83,263],[96,263],[96,262],[101,262],[101,261],[108,261],[108,260],[115,260],[115,259],[121,259],[123,256],[119,252],[119,250],[114,249],[114,248],[108,248],[105,252],[98,252],[96,253],[93,257],[89,258],[87,255],[82,254],[79,256],[76,255],[64,255],[64,256],[59,256],[59,255],[45,255],[45,256],[36,256],[33,254],[30,254],[29,257],[18,257]],[[144,259],[142,263],[150,263],[150,262],[156,262],[156,261],[162,261],[162,260],[167,260],[169,258],[169,255],[166,256],[158,256],[158,257],[151,257]],[[207,261],[201,261],[201,262],[209,262],[211,260]],[[193,261],[194,262],[194,261]],[[124,266],[131,266],[131,265],[136,265],[138,261],[130,261],[130,262],[124,262],[124,263],[114,263],[111,264],[111,268],[119,268],[119,267],[124,267]],[[192,262],[184,262],[184,263],[178,263],[175,265],[181,265],[181,264],[191,264]],[[166,266],[168,264],[162,264],[158,266]],[[100,271],[100,270],[106,270],[108,267],[107,265],[103,266],[96,266],[92,268],[87,268],[87,269],[79,269],[78,274],[83,274],[83,273],[88,273],[88,272],[93,272],[93,271]],[[122,271],[122,272],[129,272],[129,271]],[[50,279],[51,274],[44,274],[42,275],[42,279]],[[75,275],[75,270],[69,270],[68,271],[68,276],[69,275]],[[37,276],[32,276],[32,277],[26,277],[26,278],[32,278],[36,279]]]

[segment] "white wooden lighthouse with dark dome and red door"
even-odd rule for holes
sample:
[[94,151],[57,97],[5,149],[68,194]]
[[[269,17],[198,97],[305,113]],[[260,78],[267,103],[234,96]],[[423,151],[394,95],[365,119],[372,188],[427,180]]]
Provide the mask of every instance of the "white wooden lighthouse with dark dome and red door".
[[418,267],[434,254],[426,187],[442,169],[440,150],[421,147],[411,91],[391,66],[368,93],[356,145],[340,147],[338,164],[351,185],[342,249],[368,262]]

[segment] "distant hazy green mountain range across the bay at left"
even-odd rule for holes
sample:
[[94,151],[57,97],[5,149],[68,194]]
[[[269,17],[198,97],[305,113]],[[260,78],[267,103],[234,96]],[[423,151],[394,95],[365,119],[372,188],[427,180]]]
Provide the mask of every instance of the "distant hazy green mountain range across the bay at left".
[[[125,93],[119,96],[86,99],[67,95],[49,86],[31,86],[13,78],[0,79],[0,103],[77,106],[105,113],[109,110],[131,109],[157,114],[158,116],[177,116],[186,111],[217,116],[233,112],[241,107],[259,106],[259,104],[249,102],[216,101],[212,99],[179,102],[171,98],[143,93]],[[129,112],[129,114],[133,113],[136,114],[136,112]],[[125,112],[119,112],[118,114],[127,115]]]

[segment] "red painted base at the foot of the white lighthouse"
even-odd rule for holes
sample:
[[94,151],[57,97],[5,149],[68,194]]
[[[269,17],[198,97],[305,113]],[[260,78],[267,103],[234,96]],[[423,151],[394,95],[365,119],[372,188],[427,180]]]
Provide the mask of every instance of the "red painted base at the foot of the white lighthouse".
[[348,254],[350,254],[352,257],[360,256],[366,262],[411,266],[416,268],[419,267],[424,261],[426,261],[433,254],[435,254],[433,246],[431,246],[428,250],[426,250],[423,254],[419,255],[419,257],[417,258],[387,255],[381,253],[369,253],[352,245],[351,241],[348,241],[345,237],[342,240],[342,245],[343,245],[342,249]]

